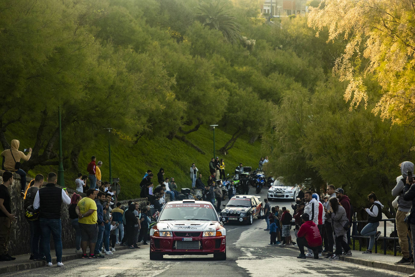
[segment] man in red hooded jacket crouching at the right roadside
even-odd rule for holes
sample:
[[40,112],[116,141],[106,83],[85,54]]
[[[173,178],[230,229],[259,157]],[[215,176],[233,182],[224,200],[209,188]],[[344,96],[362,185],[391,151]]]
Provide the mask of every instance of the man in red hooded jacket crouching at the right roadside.
[[322,244],[320,231],[318,230],[317,225],[310,220],[308,213],[304,213],[301,216],[301,219],[304,223],[297,233],[297,245],[300,249],[300,255],[298,255],[297,258],[305,259],[304,247],[307,247],[313,251],[314,258],[318,259],[318,248]]

